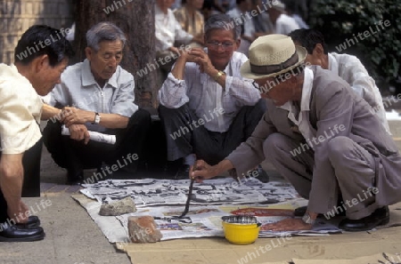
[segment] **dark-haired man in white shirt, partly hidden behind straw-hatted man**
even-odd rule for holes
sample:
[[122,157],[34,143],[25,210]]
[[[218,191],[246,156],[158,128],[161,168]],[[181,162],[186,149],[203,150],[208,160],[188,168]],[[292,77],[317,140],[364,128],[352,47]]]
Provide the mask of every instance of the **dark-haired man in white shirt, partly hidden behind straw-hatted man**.
[[323,34],[315,29],[297,29],[292,31],[289,36],[296,45],[307,49],[307,62],[331,70],[344,79],[354,92],[362,96],[371,105],[373,113],[379,117],[381,124],[389,132],[389,123],[386,119],[381,92],[361,60],[348,54],[329,53]]

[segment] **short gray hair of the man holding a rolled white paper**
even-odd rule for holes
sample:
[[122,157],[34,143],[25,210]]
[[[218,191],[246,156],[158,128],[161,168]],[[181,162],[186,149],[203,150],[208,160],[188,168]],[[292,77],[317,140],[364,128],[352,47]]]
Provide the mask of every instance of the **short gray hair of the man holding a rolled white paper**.
[[100,22],[86,32],[86,43],[88,47],[99,51],[99,44],[102,41],[120,40],[123,47],[126,44],[127,38],[124,32],[111,22]]

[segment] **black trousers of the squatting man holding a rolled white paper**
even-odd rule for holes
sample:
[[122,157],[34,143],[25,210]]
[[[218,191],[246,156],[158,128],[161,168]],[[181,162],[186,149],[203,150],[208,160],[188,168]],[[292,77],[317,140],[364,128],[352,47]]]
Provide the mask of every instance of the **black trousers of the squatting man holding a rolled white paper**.
[[[143,159],[143,146],[150,125],[149,112],[138,109],[129,118],[126,128],[108,129],[104,132],[116,135],[114,145],[94,140],[89,140],[85,145],[83,140],[71,140],[70,136],[61,135],[61,123],[51,120],[43,134],[45,146],[54,162],[69,172],[99,168],[102,162],[110,165],[124,164],[125,169],[135,172],[139,160]],[[137,155],[138,159],[129,160],[128,155]]]

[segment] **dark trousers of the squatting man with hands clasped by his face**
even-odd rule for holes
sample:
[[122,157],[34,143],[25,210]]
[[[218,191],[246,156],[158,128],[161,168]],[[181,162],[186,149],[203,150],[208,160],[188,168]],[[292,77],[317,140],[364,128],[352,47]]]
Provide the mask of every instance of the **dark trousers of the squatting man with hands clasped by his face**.
[[[160,119],[167,136],[168,160],[174,161],[193,153],[197,159],[203,159],[208,164],[219,163],[250,137],[265,111],[265,100],[259,100],[253,107],[243,107],[228,131],[221,133],[210,132],[204,125],[191,127],[189,124],[193,121],[198,124],[200,117],[193,113],[188,104],[181,108],[160,105]],[[180,136],[177,136],[177,132]]]

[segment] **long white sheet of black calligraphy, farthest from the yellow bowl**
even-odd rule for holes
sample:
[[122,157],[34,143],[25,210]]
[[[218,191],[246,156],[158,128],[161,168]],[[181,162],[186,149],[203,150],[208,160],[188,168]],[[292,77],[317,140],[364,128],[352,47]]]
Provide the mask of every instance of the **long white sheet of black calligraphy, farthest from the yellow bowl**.
[[[81,192],[101,203],[130,196],[136,207],[185,204],[190,180],[103,180]],[[193,185],[191,204],[276,204],[297,198],[290,183],[255,178],[204,180]]]

